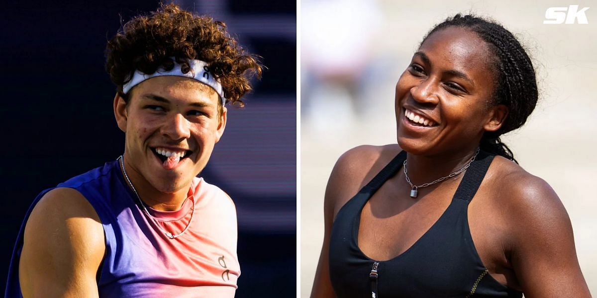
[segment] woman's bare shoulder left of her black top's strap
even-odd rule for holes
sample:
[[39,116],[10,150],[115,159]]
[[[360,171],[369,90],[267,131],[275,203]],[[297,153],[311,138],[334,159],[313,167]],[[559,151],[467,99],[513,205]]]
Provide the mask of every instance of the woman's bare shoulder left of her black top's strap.
[[326,205],[333,207],[333,214],[400,151],[398,144],[361,145],[342,154],[332,170],[325,191]]

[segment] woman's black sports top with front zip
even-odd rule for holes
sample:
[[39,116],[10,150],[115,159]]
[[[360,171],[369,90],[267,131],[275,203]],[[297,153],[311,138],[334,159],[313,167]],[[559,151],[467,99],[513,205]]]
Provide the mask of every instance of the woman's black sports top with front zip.
[[393,259],[376,261],[358,247],[361,210],[402,167],[398,154],[340,209],[330,238],[330,278],[338,297],[522,297],[498,283],[481,262],[470,236],[467,209],[494,156],[479,152],[452,202],[413,246]]

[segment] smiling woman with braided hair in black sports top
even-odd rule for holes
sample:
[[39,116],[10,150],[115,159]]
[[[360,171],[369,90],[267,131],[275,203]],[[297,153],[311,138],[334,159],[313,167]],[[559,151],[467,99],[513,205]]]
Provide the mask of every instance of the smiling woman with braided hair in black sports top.
[[590,297],[564,206],[500,141],[537,98],[503,26],[435,26],[396,84],[398,144],[334,166],[312,297]]

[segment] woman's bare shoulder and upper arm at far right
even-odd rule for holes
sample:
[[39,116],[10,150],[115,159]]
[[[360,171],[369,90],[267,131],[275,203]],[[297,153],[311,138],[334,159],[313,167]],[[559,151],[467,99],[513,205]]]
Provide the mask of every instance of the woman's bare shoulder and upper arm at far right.
[[558,195],[518,164],[502,157],[495,160],[497,176],[491,180],[502,203],[496,210],[507,223],[504,247],[525,296],[590,297],[570,217]]

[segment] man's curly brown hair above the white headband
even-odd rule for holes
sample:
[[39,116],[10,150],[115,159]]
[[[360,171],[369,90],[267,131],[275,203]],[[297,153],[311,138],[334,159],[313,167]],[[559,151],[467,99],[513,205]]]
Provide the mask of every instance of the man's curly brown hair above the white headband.
[[241,97],[252,89],[250,77],[261,77],[257,56],[238,45],[226,24],[181,10],[176,4],[161,4],[157,11],[124,24],[106,46],[106,71],[127,100],[122,85],[135,70],[147,74],[158,68],[171,70],[172,57],[184,73],[190,70],[188,60],[205,61],[221,83],[226,102],[241,107]]

